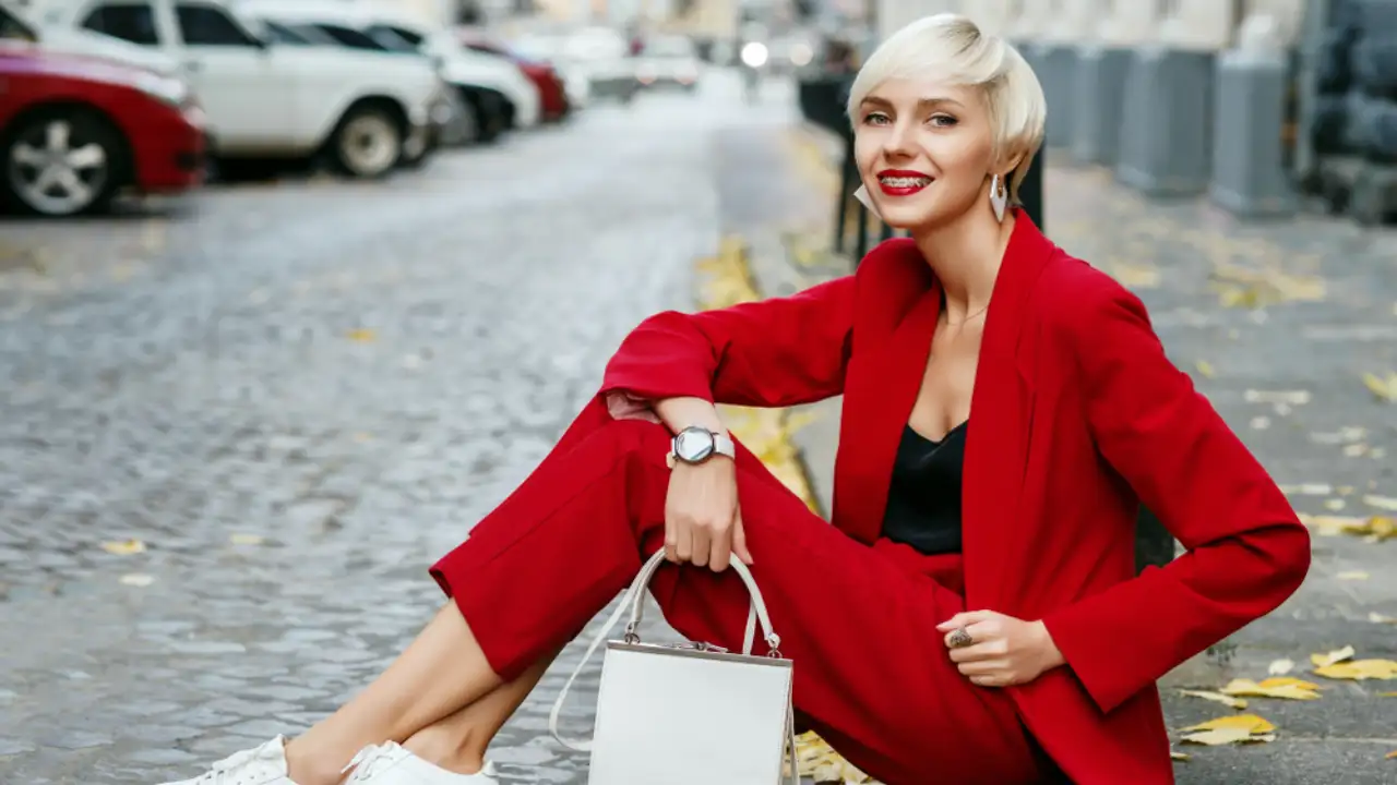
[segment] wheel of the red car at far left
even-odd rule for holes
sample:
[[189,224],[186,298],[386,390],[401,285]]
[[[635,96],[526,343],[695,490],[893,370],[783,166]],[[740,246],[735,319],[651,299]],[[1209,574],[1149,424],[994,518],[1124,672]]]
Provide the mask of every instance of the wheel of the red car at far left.
[[0,138],[0,198],[54,218],[110,207],[131,163],[120,131],[77,106],[21,116]]

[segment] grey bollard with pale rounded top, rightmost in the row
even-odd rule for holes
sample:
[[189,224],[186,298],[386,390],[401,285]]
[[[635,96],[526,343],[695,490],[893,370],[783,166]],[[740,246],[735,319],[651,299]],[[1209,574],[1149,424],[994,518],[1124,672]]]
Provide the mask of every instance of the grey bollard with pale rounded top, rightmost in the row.
[[1289,67],[1271,22],[1243,24],[1241,46],[1218,60],[1210,198],[1246,218],[1295,211],[1285,173],[1285,99]]

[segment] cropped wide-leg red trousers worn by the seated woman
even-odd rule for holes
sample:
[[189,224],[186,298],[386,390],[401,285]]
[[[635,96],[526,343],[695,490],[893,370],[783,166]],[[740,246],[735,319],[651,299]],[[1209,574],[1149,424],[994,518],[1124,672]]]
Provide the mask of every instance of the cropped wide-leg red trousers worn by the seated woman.
[[[662,548],[668,448],[664,426],[588,406],[432,567],[499,676],[576,637]],[[961,676],[936,630],[963,610],[958,557],[849,539],[740,447],[738,499],[803,725],[890,785],[1044,775],[1010,697]],[[680,634],[740,648],[749,599],[736,575],[664,566],[651,592]]]

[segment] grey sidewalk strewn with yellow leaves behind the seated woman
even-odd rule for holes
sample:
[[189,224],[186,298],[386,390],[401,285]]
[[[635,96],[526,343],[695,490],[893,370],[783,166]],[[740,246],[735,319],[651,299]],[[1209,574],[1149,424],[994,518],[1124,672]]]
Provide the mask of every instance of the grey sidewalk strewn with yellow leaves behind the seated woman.
[[[852,270],[827,251],[838,145],[809,127],[787,138],[781,155],[798,175],[784,179],[785,232],[742,226],[763,296]],[[1397,682],[1326,679],[1310,662],[1348,645],[1351,659],[1397,659],[1397,405],[1376,384],[1397,370],[1397,232],[1322,217],[1241,225],[1204,203],[1147,203],[1106,172],[1059,165],[1052,155],[1048,162],[1048,233],[1146,300],[1171,356],[1316,534],[1313,568],[1295,596],[1161,683],[1173,749],[1189,756],[1175,764],[1179,782],[1397,782],[1397,760],[1384,757],[1397,751],[1397,696],[1380,696]],[[791,440],[828,510],[838,401],[799,416],[813,419]],[[1376,521],[1386,536],[1372,535],[1375,517],[1386,517]],[[1294,663],[1289,676],[1317,683],[1322,697],[1246,697],[1245,710],[1234,710],[1218,696],[1180,691],[1215,691],[1236,677],[1261,682],[1281,659]],[[1231,714],[1270,721],[1274,740],[1179,742],[1183,728]]]

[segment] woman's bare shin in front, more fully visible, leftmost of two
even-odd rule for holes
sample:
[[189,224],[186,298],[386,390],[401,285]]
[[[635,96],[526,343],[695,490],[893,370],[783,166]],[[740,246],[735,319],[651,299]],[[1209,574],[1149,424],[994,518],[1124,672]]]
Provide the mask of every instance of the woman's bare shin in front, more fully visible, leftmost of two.
[[291,778],[334,785],[367,744],[405,742],[502,686],[471,627],[447,603],[365,691],[286,744]]

